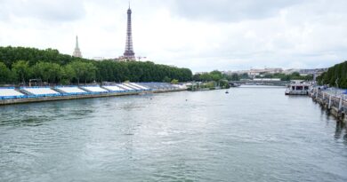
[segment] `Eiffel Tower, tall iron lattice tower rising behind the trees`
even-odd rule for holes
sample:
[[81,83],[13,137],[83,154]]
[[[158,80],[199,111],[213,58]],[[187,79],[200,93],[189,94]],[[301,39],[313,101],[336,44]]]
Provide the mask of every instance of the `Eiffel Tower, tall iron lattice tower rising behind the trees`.
[[127,28],[126,28],[126,44],[125,44],[125,52],[124,59],[135,60],[135,53],[133,52],[133,36],[132,36],[132,10],[129,9],[127,11]]

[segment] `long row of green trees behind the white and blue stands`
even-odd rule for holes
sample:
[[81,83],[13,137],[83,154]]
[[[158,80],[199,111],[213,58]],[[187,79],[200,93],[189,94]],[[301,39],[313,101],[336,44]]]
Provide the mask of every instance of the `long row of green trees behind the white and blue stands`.
[[[61,54],[57,50],[25,47],[0,47],[0,83],[28,82],[41,78],[47,83],[98,82],[180,82],[190,81],[188,68],[170,67],[153,62],[96,61]],[[5,67],[4,67],[5,66]]]

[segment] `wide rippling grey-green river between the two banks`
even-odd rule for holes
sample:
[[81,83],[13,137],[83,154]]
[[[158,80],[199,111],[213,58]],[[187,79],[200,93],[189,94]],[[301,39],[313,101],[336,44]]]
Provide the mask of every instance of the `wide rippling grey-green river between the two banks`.
[[0,107],[0,181],[347,181],[347,135],[284,88]]

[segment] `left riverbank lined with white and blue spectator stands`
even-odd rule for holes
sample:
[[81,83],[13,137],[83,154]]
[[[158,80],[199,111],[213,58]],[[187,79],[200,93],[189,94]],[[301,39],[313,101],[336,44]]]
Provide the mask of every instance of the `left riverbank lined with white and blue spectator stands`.
[[[0,88],[0,106],[46,102],[69,99],[92,99],[186,91],[185,87],[168,83],[122,83],[107,86],[58,86],[58,87],[14,87]],[[4,96],[5,95],[5,96]],[[11,96],[10,96],[11,95]]]

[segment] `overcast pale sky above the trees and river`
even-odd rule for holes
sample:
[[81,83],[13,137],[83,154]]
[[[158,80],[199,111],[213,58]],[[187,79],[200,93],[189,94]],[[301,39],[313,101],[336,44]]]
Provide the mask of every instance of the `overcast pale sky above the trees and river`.
[[[133,0],[133,49],[192,71],[331,67],[347,59],[346,0]],[[0,46],[85,58],[125,50],[127,0],[0,0]]]

